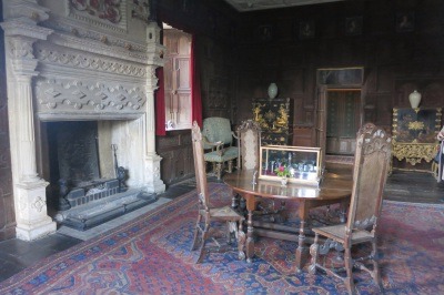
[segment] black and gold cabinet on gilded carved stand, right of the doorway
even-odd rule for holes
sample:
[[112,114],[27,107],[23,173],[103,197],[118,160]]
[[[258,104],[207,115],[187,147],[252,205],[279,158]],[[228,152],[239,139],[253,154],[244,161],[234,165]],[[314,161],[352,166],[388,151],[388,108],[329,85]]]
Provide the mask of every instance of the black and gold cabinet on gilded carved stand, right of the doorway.
[[[414,170],[422,162],[431,163],[440,144],[436,134],[441,129],[442,109],[393,109],[393,159],[410,164],[404,170]],[[432,165],[432,164],[431,164]],[[390,171],[400,169],[391,165]],[[416,169],[421,170],[421,169]],[[425,170],[427,172],[432,169]]]

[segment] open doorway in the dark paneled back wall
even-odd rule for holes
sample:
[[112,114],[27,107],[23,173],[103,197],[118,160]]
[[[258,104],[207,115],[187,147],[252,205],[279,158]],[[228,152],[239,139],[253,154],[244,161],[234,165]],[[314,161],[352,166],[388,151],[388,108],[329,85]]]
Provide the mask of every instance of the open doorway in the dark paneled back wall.
[[326,99],[326,153],[353,155],[360,129],[360,90],[329,90]]

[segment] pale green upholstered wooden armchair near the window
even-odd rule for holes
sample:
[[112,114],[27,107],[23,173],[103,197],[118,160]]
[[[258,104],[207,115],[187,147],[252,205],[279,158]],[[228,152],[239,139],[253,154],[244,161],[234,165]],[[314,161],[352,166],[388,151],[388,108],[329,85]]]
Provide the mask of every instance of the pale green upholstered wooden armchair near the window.
[[231,131],[230,120],[225,118],[206,118],[202,128],[203,148],[211,150],[204,154],[205,162],[212,163],[213,172],[221,180],[224,164],[228,172],[233,172],[233,160],[239,156],[238,146],[233,146],[234,132]]

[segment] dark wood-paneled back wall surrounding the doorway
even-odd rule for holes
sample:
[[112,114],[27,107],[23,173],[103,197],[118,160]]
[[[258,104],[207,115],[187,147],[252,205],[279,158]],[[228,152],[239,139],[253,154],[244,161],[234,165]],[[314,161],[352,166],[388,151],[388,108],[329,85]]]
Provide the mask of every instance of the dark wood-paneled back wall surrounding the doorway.
[[[315,123],[315,73],[321,68],[363,67],[361,115],[386,130],[392,109],[410,106],[414,89],[423,93],[421,106],[442,106],[443,11],[440,0],[361,0],[242,14],[238,121],[251,118],[252,99],[266,96],[268,85],[275,82],[279,96],[295,101],[294,138],[306,144],[313,134],[307,129]],[[396,29],[402,13],[414,16],[412,30]],[[350,18],[362,18],[362,32],[346,32]],[[301,21],[314,24],[313,38],[300,35]],[[261,37],[264,27],[271,28],[271,38]]]

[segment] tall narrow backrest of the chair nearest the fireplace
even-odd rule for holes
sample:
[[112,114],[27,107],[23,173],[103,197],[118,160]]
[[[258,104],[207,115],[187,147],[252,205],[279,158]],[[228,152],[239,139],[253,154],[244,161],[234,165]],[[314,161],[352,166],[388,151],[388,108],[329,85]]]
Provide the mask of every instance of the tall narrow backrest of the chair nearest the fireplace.
[[203,143],[202,143],[202,133],[201,129],[198,125],[198,122],[193,122],[191,128],[191,139],[193,145],[193,157],[194,157],[194,172],[195,172],[195,182],[198,187],[199,197],[201,204],[208,208],[209,204],[209,193],[206,185],[206,171],[205,171],[205,160],[203,157]]

